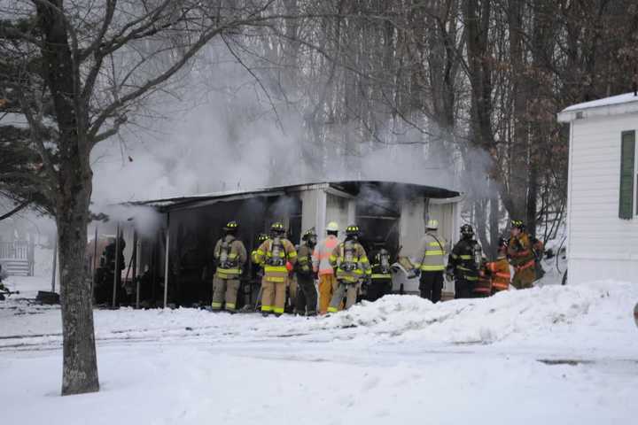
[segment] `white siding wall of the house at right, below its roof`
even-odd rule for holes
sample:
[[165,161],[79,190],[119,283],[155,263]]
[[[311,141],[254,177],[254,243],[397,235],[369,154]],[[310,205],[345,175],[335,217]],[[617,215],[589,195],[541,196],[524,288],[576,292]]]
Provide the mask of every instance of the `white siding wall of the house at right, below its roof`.
[[638,114],[574,120],[571,130],[569,282],[635,282],[638,217],[619,219],[619,173],[621,133],[638,131]]

